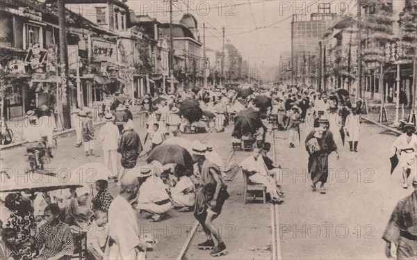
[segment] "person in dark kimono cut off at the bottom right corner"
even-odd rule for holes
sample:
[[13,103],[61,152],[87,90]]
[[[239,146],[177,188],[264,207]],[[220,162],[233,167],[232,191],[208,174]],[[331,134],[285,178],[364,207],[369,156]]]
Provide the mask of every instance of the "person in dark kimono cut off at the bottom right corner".
[[417,259],[417,177],[413,187],[414,192],[395,206],[382,236],[388,258]]

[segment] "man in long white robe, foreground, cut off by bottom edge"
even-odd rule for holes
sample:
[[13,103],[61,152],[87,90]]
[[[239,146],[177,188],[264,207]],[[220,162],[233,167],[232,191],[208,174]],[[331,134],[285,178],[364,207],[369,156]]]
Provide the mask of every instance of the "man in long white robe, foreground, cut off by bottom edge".
[[140,240],[140,229],[132,207],[139,193],[138,177],[126,174],[120,184],[119,195],[108,209],[109,237],[104,259],[140,259],[145,254],[146,245]]

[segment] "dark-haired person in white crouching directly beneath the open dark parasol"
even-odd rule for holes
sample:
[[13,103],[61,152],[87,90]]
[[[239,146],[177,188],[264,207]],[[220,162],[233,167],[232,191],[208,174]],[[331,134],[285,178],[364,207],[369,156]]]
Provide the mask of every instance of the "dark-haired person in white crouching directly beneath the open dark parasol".
[[195,204],[194,184],[188,176],[188,172],[183,165],[177,164],[174,174],[171,174],[172,185],[170,188],[172,202],[175,207],[180,207],[179,212],[193,210]]

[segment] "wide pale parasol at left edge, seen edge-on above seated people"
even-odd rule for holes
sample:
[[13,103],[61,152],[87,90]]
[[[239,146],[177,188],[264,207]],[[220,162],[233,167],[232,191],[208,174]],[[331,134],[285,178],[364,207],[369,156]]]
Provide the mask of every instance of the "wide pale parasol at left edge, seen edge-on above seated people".
[[30,193],[35,192],[48,192],[51,190],[60,190],[65,188],[81,188],[82,185],[76,184],[70,180],[70,176],[51,176],[46,174],[40,174],[38,172],[29,172],[22,176],[15,175],[15,178],[6,179],[1,181],[0,192],[11,193],[19,191],[27,191]]

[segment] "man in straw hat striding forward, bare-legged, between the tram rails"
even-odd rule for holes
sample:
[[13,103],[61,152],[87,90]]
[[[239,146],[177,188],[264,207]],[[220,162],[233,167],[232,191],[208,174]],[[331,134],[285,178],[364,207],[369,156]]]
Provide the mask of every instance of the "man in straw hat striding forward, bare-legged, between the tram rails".
[[[207,241],[199,243],[201,250],[211,250],[212,257],[226,254],[226,245],[222,241],[220,232],[213,224],[222,211],[224,201],[229,197],[227,185],[224,184],[218,165],[206,159],[206,145],[198,140],[193,141],[191,154],[197,163],[199,187],[195,197],[194,216],[200,222],[206,233]],[[218,244],[214,246],[213,236]]]

